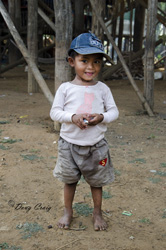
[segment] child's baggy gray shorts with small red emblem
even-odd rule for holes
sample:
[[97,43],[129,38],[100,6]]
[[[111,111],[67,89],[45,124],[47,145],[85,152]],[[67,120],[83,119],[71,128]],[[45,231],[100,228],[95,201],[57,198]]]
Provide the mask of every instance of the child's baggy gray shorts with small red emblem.
[[111,183],[114,171],[107,141],[102,139],[94,146],[79,146],[60,138],[53,174],[66,184],[78,182],[81,175],[92,187]]

